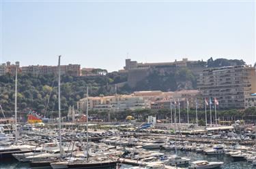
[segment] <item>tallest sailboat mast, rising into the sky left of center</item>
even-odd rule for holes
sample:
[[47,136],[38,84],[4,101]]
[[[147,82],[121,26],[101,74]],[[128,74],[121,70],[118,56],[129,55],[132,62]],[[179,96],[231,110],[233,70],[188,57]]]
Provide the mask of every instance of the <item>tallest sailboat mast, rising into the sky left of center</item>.
[[61,152],[61,56],[59,56],[59,78],[58,78],[58,102],[59,102],[59,154],[62,157]]

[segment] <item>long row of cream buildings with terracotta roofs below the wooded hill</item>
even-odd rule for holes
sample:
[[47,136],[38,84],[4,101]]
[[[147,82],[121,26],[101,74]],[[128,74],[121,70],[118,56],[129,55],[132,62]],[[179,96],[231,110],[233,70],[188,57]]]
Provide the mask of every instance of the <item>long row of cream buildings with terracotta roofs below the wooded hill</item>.
[[[135,109],[170,109],[170,100],[180,99],[181,108],[186,107],[186,99],[190,107],[195,103],[195,97],[199,95],[198,90],[182,90],[178,92],[139,91],[129,95],[98,96],[89,97],[88,109],[94,111],[124,111]],[[86,98],[77,102],[78,109],[86,110]]]

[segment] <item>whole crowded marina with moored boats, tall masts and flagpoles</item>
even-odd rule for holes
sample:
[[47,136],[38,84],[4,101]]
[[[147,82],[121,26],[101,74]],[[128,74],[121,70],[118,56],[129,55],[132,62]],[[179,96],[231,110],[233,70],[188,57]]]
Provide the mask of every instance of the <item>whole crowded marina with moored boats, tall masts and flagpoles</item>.
[[13,123],[0,126],[0,168],[256,168],[254,124],[244,124],[243,120],[233,121],[229,126],[217,124],[216,98],[214,103],[211,98],[203,98],[205,127],[198,124],[197,98],[195,124],[189,121],[188,98],[187,123],[182,121],[180,114],[180,98],[169,100],[171,120],[160,121],[149,115],[147,122],[139,122],[128,115],[123,122],[89,121],[87,86],[84,114],[75,115],[74,107],[70,107],[68,117],[71,118],[63,121],[60,62],[61,56],[58,64],[57,117],[45,123],[42,117],[33,112],[27,115],[27,122],[18,123],[16,69]]

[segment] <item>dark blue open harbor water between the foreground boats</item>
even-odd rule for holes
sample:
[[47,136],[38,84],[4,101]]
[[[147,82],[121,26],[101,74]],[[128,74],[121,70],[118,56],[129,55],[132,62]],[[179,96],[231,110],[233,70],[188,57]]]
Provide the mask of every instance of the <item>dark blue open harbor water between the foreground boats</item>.
[[[173,155],[174,151],[161,151],[166,155]],[[232,157],[229,155],[204,155],[202,153],[195,153],[191,151],[177,151],[177,155],[182,157],[186,156],[195,160],[208,160],[209,162],[224,162],[222,169],[256,169],[256,166],[253,166],[251,162],[234,162]],[[187,166],[180,166],[182,168],[187,168]],[[15,159],[1,159],[0,168],[6,169],[29,169],[29,163],[17,162]],[[110,169],[110,168],[109,168]],[[114,168],[113,168],[114,169]]]

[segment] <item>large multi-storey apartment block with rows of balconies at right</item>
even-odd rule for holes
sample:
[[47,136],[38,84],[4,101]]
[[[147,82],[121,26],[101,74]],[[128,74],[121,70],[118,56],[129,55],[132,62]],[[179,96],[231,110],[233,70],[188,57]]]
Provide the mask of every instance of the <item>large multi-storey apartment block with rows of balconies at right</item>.
[[197,89],[204,98],[218,99],[223,109],[244,109],[245,98],[256,92],[255,67],[232,66],[205,69],[197,77]]

